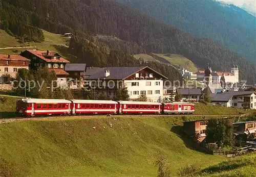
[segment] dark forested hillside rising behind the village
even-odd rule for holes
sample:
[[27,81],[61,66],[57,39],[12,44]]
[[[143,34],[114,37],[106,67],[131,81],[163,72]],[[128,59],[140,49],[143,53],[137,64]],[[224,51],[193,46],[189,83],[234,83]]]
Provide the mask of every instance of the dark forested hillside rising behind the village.
[[[214,70],[229,71],[233,64],[238,64],[241,80],[254,83],[256,79],[254,72],[256,65],[236,52],[210,39],[200,39],[168,26],[163,21],[116,1],[63,0],[59,2],[51,0],[41,2],[28,0],[24,3],[22,0],[15,2],[2,0],[0,13],[3,14],[1,20],[4,21],[1,28],[8,33],[17,35],[20,39],[30,35],[30,38],[25,39],[43,41],[42,34],[38,29],[58,34],[73,32],[77,38],[74,37],[74,41],[71,40],[71,53],[79,58],[79,62],[90,63],[90,66],[91,64],[94,66],[113,66],[119,65],[119,63],[131,66],[136,63],[136,61],[131,61],[131,55],[170,53],[182,55],[201,68],[205,68],[209,63]],[[24,14],[26,18],[20,18],[20,15],[15,14]],[[19,23],[22,24],[15,23],[16,19],[19,19]],[[33,28],[30,29],[31,27]],[[28,30],[26,30],[27,28]],[[31,32],[31,34],[27,34],[27,32]],[[124,42],[95,41],[93,36],[98,35],[114,36]],[[108,47],[103,45],[108,45]],[[109,47],[113,53],[106,53]],[[112,59],[109,60],[109,58]],[[124,64],[123,61],[118,62],[117,60],[120,58],[124,58],[121,60],[127,62]],[[165,67],[158,64],[154,65],[158,71]],[[164,68],[162,72],[166,70],[171,69]],[[175,75],[172,79],[179,78],[177,72],[172,72]],[[172,75],[171,73],[168,74]]]

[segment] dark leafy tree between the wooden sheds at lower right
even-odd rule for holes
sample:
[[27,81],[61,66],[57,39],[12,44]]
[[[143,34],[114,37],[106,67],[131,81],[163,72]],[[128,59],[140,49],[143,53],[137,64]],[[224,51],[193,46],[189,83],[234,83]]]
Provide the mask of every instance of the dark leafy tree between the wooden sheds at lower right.
[[206,128],[206,142],[216,143],[219,147],[233,146],[233,126],[228,119],[212,118],[208,120]]

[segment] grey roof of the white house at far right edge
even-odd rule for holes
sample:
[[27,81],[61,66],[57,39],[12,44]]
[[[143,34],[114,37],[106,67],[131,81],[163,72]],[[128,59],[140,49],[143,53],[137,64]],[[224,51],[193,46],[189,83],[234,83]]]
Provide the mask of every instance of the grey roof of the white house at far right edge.
[[228,102],[232,96],[239,95],[251,95],[253,91],[228,91],[224,93],[217,93],[214,98],[211,99],[212,102]]

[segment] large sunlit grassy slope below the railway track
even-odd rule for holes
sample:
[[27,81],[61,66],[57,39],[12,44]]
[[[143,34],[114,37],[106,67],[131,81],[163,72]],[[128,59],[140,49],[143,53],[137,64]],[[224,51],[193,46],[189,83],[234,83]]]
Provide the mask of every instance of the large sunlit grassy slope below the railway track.
[[187,165],[207,167],[225,159],[189,148],[180,137],[181,116],[114,117],[0,124],[0,176],[156,176],[158,151],[173,175]]

